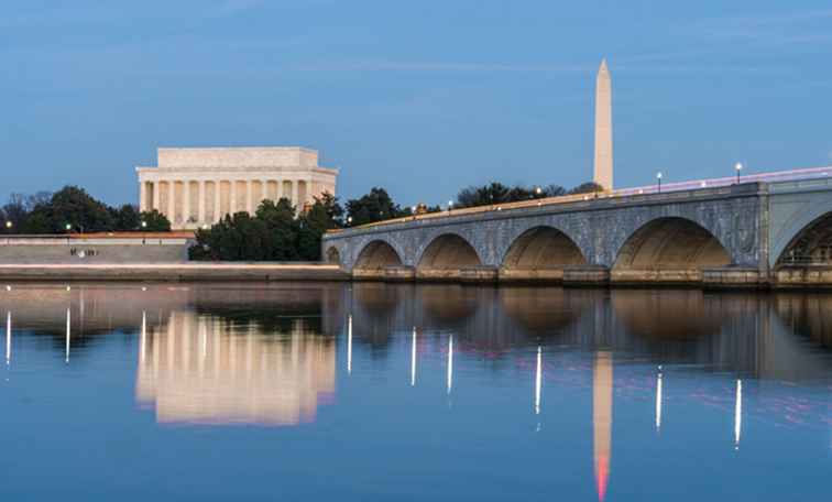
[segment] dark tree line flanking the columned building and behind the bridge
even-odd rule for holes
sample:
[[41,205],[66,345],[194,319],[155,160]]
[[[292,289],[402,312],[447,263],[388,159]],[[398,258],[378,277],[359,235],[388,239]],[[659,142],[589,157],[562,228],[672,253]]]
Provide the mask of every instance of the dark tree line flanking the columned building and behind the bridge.
[[[559,185],[528,187],[494,182],[461,189],[453,207],[499,205],[601,189],[594,183],[567,190]],[[314,203],[302,210],[285,198],[263,200],[253,215],[245,211],[227,215],[210,228],[197,230],[189,257],[216,261],[317,261],[327,230],[407,217],[414,211],[440,210],[438,205],[402,207],[381,187],[373,187],[344,206],[327,193],[315,197]],[[0,231],[6,233],[171,230],[171,222],[155,209],[140,212],[129,204],[111,207],[76,186],[66,186],[54,194],[13,194],[0,208],[0,218],[6,221]]]

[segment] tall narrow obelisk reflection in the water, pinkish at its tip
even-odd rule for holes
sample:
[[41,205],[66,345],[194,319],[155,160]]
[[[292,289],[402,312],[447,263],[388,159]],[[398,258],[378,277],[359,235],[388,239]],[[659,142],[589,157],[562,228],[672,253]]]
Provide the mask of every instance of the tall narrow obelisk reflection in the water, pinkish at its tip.
[[598,499],[601,501],[606,496],[612,460],[612,354],[599,351],[595,353],[592,372],[592,429],[595,483]]

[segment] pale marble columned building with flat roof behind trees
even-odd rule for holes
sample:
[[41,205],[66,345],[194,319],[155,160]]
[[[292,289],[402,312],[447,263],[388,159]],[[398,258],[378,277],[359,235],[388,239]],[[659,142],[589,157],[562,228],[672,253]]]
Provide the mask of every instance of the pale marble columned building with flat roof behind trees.
[[338,170],[303,148],[158,149],[155,167],[136,167],[141,210],[157,209],[174,229],[193,229],[262,200],[287,198],[298,210],[336,193]]

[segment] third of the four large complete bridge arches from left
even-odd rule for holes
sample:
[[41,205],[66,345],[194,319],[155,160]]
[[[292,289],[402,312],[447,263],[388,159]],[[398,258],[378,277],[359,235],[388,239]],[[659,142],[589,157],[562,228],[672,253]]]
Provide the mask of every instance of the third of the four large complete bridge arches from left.
[[584,265],[588,260],[566,232],[540,225],[513,239],[500,263],[503,279],[562,279],[563,268]]

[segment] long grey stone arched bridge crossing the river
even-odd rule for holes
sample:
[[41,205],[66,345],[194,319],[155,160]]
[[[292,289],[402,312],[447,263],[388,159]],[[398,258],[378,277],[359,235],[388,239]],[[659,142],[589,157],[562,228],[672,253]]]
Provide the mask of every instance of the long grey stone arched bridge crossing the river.
[[325,236],[354,279],[832,285],[832,179],[456,210]]

